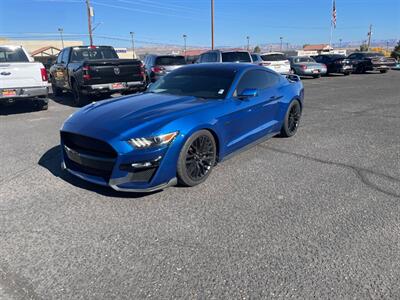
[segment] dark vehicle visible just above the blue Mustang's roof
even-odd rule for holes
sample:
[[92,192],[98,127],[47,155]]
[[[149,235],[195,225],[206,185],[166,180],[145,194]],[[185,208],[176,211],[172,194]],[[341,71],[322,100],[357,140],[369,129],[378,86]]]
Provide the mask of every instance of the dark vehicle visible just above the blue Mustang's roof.
[[248,51],[225,51],[225,50],[211,50],[200,55],[199,63],[221,63],[221,62],[235,62],[235,63],[252,63],[250,52]]

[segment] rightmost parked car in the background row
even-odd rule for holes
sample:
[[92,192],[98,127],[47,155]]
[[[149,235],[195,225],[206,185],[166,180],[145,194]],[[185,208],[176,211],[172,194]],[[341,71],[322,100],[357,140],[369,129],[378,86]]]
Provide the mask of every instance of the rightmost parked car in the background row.
[[353,65],[356,73],[365,73],[367,71],[386,73],[396,65],[394,58],[385,57],[379,52],[355,52],[350,54],[347,59]]

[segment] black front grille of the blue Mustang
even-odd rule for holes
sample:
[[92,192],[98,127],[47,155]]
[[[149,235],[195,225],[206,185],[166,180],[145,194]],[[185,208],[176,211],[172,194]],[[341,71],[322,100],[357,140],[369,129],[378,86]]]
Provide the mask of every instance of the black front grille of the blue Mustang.
[[117,157],[106,142],[68,132],[61,133],[67,168],[109,181]]

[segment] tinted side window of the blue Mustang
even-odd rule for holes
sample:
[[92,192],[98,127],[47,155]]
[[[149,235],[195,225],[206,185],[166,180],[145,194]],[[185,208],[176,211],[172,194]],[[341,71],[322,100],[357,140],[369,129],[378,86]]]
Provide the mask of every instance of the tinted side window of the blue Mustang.
[[274,86],[278,82],[279,75],[262,70],[248,71],[240,79],[236,89],[236,94],[241,94],[244,89],[267,89]]

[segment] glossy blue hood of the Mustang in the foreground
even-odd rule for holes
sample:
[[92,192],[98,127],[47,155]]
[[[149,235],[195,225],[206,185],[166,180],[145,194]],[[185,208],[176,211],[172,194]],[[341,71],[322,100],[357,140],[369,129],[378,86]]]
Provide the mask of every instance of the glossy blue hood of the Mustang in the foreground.
[[[108,133],[111,138],[132,131],[154,133],[165,124],[218,103],[193,96],[144,93],[89,104],[74,113],[64,129],[83,135]],[[66,126],[68,125],[68,126]]]

